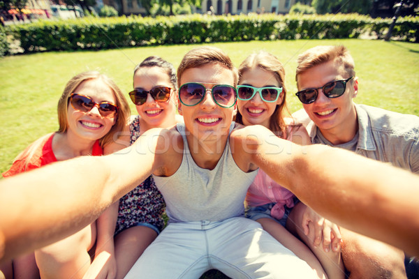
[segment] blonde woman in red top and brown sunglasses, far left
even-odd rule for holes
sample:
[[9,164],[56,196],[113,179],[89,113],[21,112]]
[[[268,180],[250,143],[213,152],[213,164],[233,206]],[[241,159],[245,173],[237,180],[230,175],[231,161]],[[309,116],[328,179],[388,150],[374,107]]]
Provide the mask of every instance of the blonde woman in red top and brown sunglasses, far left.
[[[29,145],[3,176],[77,156],[101,156],[103,146],[119,136],[128,117],[128,103],[109,77],[96,71],[75,75],[59,99],[59,130]],[[39,278],[40,274],[42,278],[82,278],[91,265],[90,255],[103,264],[103,272],[115,275],[115,259],[108,259],[113,255],[115,229],[108,224],[115,220],[108,216],[105,211],[72,236],[0,266],[0,277],[3,271],[6,278]]]

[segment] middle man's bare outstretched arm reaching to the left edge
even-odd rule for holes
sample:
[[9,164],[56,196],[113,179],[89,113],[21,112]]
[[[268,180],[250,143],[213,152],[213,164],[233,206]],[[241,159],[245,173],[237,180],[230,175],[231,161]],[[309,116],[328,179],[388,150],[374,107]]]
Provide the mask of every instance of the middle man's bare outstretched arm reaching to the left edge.
[[159,167],[167,130],[109,156],[53,163],[0,181],[0,262],[89,225]]

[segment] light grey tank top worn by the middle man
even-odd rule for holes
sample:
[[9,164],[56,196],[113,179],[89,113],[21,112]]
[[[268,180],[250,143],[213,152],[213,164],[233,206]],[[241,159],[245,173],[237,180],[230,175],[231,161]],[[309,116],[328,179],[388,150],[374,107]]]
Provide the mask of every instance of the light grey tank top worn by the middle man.
[[[233,122],[230,133],[234,128]],[[214,169],[196,165],[190,152],[183,123],[177,130],[184,141],[182,164],[172,176],[154,176],[154,181],[166,201],[166,213],[172,223],[191,221],[221,221],[242,216],[244,197],[258,173],[243,172],[233,160],[230,140]]]

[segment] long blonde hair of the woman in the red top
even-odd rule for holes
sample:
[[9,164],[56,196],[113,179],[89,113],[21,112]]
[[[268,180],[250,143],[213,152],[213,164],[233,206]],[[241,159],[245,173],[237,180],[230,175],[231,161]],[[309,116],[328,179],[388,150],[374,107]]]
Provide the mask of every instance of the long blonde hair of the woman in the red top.
[[82,82],[85,82],[87,80],[101,80],[103,83],[108,85],[110,89],[112,89],[115,99],[117,100],[116,105],[118,107],[118,113],[117,113],[117,121],[114,126],[110,129],[109,133],[105,135],[105,137],[102,137],[99,140],[99,143],[101,146],[105,146],[105,144],[108,144],[113,140],[114,135],[119,136],[119,132],[122,132],[124,127],[126,126],[126,123],[128,121],[128,118],[131,114],[131,110],[128,106],[128,103],[126,102],[126,98],[124,97],[124,93],[122,93],[121,89],[115,84],[113,80],[110,79],[110,77],[103,75],[97,71],[88,71],[83,72],[78,75],[75,75],[71,78],[66,84],[66,87],[64,88],[64,92],[61,94],[61,98],[59,98],[58,106],[57,106],[57,112],[58,112],[58,122],[59,122],[59,133],[66,132],[68,128],[67,123],[67,112],[68,112],[68,99],[70,98],[71,93],[75,91],[75,89],[82,84]]

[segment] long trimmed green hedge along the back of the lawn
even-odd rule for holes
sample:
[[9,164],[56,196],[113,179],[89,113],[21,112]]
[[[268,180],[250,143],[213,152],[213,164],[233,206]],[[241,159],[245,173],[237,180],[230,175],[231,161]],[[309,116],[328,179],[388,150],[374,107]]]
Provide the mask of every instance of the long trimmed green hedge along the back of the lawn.
[[[175,17],[84,17],[9,26],[24,52],[101,50],[116,47],[239,40],[383,38],[391,19],[349,15],[180,15]],[[419,17],[397,20],[394,40],[418,42]]]

